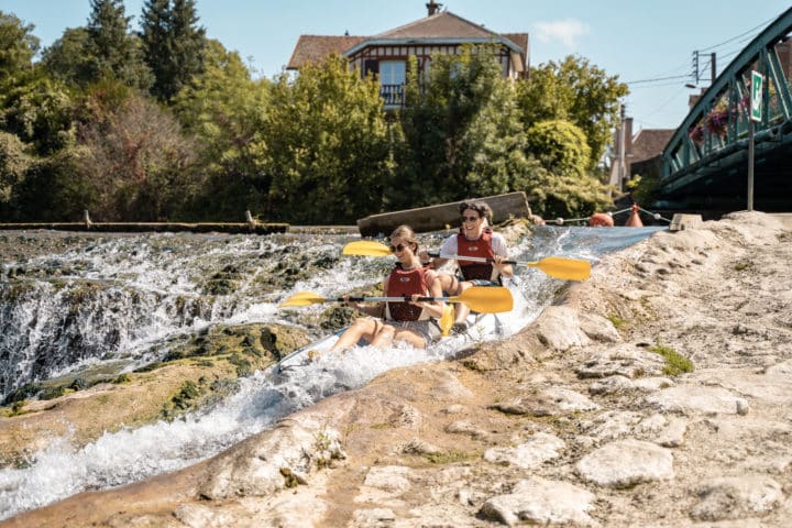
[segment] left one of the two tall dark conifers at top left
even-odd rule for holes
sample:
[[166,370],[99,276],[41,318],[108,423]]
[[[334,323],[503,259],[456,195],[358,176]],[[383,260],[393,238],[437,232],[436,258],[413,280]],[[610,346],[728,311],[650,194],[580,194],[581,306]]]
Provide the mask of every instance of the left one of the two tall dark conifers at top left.
[[87,72],[80,79],[89,86],[102,78],[116,78],[127,86],[146,89],[152,75],[143,62],[139,38],[129,33],[131,16],[122,0],[91,0],[88,19]]

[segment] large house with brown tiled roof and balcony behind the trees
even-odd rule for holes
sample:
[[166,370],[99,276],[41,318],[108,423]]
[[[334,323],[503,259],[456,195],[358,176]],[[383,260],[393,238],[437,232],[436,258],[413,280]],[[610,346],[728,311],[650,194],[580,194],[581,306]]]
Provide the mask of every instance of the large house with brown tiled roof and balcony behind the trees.
[[320,62],[332,53],[344,56],[361,76],[373,73],[380,79],[385,108],[404,105],[407,61],[417,57],[421,74],[429,70],[431,55],[458,54],[465,44],[496,44],[503,75],[525,77],[528,73],[528,33],[495,33],[429,0],[428,14],[374,36],[300,35],[286,69]]

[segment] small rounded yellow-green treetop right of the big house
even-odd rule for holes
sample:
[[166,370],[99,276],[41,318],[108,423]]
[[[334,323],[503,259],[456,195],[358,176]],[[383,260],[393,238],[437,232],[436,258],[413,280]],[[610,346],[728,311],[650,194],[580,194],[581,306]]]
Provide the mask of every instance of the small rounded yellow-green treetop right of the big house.
[[580,128],[563,120],[540,121],[528,129],[528,152],[551,173],[582,176],[591,148]]

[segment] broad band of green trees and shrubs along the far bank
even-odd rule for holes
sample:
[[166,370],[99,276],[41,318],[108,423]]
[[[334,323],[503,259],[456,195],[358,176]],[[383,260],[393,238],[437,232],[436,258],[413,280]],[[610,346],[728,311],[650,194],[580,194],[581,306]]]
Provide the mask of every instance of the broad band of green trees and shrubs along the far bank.
[[506,79],[494,45],[408,65],[406,105],[331,56],[256,79],[195,0],[90,0],[41,54],[0,12],[0,209],[8,220],[349,223],[524,190],[539,215],[605,208],[593,175],[626,86],[581,57]]

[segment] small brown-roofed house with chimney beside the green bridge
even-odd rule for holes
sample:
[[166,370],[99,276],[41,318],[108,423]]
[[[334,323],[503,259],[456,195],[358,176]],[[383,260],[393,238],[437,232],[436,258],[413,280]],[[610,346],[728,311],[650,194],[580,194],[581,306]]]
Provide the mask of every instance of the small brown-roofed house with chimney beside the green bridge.
[[624,184],[638,175],[659,176],[662,152],[675,131],[642,129],[632,134],[632,118],[623,116],[623,127],[614,133],[609,184],[620,190]]

